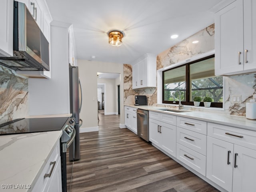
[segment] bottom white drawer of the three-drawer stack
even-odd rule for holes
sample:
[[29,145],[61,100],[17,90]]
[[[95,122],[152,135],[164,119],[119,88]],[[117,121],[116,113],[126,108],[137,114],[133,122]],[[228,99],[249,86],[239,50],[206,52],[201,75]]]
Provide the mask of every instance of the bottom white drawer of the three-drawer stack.
[[177,143],[176,158],[206,176],[206,156]]

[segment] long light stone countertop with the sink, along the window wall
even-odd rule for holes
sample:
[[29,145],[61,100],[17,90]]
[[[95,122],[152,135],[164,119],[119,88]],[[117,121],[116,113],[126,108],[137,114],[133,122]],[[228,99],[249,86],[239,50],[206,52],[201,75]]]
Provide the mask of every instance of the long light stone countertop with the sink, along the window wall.
[[[226,126],[232,126],[236,128],[256,131],[256,120],[249,120],[249,119],[246,119],[246,117],[244,116],[223,115],[223,114],[219,115],[216,113],[188,111],[188,110],[185,110],[187,112],[168,112],[168,111],[158,110],[166,107],[149,106],[149,105],[141,105],[141,106],[125,105],[125,106],[140,108],[142,110],[161,112],[165,114],[173,114],[180,117],[192,118],[196,120],[202,120],[202,121],[207,121],[211,123],[222,124]],[[172,108],[166,108],[166,109],[172,109]]]

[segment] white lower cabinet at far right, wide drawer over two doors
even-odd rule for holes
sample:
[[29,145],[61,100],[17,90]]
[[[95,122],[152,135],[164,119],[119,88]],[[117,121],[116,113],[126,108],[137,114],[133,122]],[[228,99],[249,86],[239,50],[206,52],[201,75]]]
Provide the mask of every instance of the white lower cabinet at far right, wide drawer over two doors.
[[255,132],[208,123],[208,135],[206,177],[228,192],[254,192]]

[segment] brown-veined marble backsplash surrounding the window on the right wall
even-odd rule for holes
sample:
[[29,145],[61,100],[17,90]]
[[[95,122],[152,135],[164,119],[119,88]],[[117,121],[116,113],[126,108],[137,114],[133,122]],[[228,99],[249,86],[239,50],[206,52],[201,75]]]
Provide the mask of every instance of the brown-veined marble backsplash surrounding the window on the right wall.
[[[198,40],[199,43],[192,44],[194,40]],[[214,24],[158,54],[156,70],[187,60],[196,55],[206,53],[210,50],[214,50]],[[177,105],[157,104],[157,88],[132,90],[132,65],[124,64],[124,104],[133,105],[134,96],[137,94],[146,95],[148,97],[148,105],[171,108],[178,107]],[[245,116],[246,102],[252,98],[252,94],[256,94],[256,74],[224,77],[224,107],[222,110],[216,110],[216,108],[208,109],[204,107],[195,108],[190,106],[185,106],[185,109]],[[232,103],[232,95],[241,95],[242,103]]]

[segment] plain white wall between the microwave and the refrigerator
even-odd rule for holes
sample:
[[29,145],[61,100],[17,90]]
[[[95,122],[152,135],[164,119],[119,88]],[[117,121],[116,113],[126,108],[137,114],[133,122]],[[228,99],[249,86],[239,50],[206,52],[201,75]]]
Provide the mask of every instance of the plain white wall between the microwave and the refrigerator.
[[29,114],[67,114],[69,103],[68,26],[51,26],[51,79],[29,78]]

